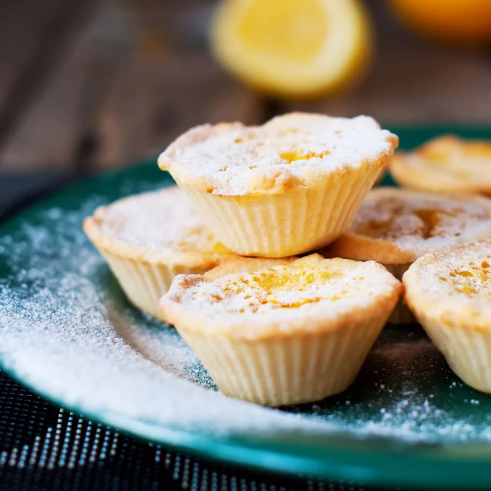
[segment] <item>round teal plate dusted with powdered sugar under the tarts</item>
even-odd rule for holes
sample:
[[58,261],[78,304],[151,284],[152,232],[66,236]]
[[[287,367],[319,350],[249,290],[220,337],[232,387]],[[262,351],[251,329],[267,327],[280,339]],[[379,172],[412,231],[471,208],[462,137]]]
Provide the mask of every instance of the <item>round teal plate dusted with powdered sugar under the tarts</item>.
[[[448,131],[491,138],[394,131],[403,148]],[[171,184],[142,163],[0,228],[4,370],[56,404],[206,458],[364,485],[490,486],[491,397],[464,385],[419,326],[385,327],[355,383],[315,404],[266,409],[218,392],[173,327],[128,303],[81,231],[97,206]]]

